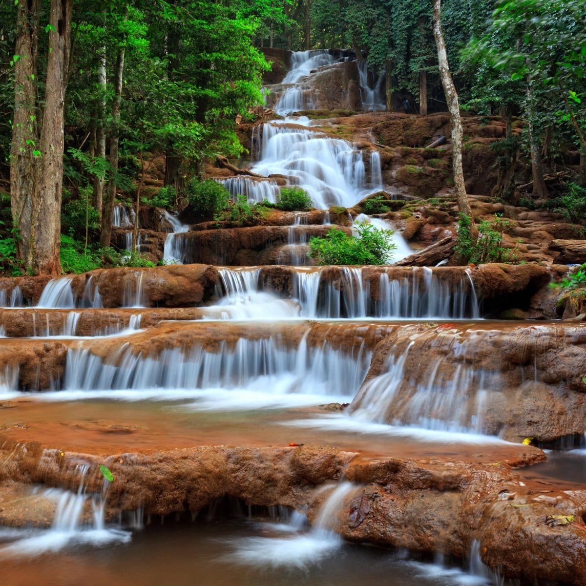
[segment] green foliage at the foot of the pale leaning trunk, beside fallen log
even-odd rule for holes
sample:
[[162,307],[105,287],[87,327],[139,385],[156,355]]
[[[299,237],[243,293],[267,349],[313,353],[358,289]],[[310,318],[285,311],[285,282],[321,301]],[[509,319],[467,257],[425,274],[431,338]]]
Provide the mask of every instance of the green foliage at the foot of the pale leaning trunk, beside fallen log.
[[458,242],[454,249],[455,253],[461,257],[469,258],[469,262],[472,264],[516,263],[516,249],[503,246],[503,233],[511,226],[509,220],[495,214],[495,219],[492,222],[482,220],[478,226],[478,239],[473,243],[471,219],[465,214],[459,214]]

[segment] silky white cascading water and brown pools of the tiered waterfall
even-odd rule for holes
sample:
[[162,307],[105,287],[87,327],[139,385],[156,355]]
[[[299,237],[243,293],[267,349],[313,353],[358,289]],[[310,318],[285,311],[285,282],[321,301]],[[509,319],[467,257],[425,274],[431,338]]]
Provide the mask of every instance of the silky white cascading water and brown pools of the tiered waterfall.
[[[312,107],[312,71],[337,60],[327,51],[294,53],[276,110],[287,115]],[[363,109],[384,108],[383,78],[363,64],[359,74]],[[316,207],[350,207],[384,188],[376,150],[362,152],[312,130],[306,118],[257,129],[255,171],[280,173],[289,185],[306,189]],[[233,196],[254,202],[274,201],[279,189],[273,180],[221,182]],[[182,263],[182,234],[189,226],[172,214],[165,217],[172,232],[163,257]],[[329,215],[321,218],[329,223]],[[394,229],[364,214],[355,218],[354,229],[365,222]],[[114,225],[131,223],[131,210],[115,207]],[[212,300],[185,308],[189,314],[176,321],[149,297],[159,285],[148,270],[121,277],[122,296],[114,302],[100,272],[82,285],[72,277],[49,281],[36,305],[21,285],[2,285],[2,333],[19,312],[18,319],[31,322],[30,338],[43,338],[28,342],[46,344],[45,351],[50,339],[59,338],[64,360],[44,386],[39,376],[37,387],[25,387],[18,366],[0,373],[0,429],[55,448],[43,452],[39,466],[56,465],[57,447],[126,454],[299,441],[381,456],[481,463],[500,461],[517,449],[502,439],[505,428],[491,418],[507,380],[501,369],[482,363],[495,340],[514,326],[482,321],[483,300],[471,272],[306,266],[309,229],[304,213],[288,227],[280,254],[294,267],[219,267]],[[395,247],[389,261],[411,254],[397,231],[389,239]],[[104,308],[108,299],[114,307]],[[92,335],[80,335],[92,319]],[[396,342],[381,355],[390,336]],[[0,349],[9,352],[20,342],[2,339]],[[507,370],[512,377],[510,372],[520,389],[543,377],[537,362],[515,364]],[[578,449],[553,452],[547,462],[524,471],[526,478],[569,476],[583,483],[584,449],[570,447]],[[347,512],[360,485],[343,478],[315,489],[323,494],[311,527],[305,510],[257,515],[240,502],[230,505],[237,519],[214,517],[220,503],[195,522],[149,519],[141,509],[113,522],[105,517],[107,481],[101,490],[88,489],[98,474],[94,464],[82,458],[64,467],[67,490],[29,487],[23,502],[42,503],[51,520],[45,529],[0,527],[0,571],[7,584],[166,584],[170,577],[177,585],[197,579],[220,586],[503,583],[482,564],[474,539],[458,564],[345,543],[338,535],[340,513]]]

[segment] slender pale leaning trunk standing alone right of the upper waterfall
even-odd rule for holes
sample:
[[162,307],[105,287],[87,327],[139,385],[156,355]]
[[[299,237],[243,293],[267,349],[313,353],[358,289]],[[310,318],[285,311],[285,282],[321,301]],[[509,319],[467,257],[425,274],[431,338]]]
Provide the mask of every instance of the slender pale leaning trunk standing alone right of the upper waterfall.
[[[460,107],[458,103],[458,92],[454,86],[451,73],[449,72],[448,54],[445,49],[444,35],[441,30],[441,0],[434,0],[434,37],[438,50],[438,63],[440,65],[440,77],[444,94],[448,103],[449,117],[452,125],[452,170],[454,172],[454,186],[458,198],[458,209],[461,214],[468,216],[471,220],[470,236],[472,243],[478,238],[478,230],[474,225],[474,217],[466,195],[464,183],[464,170],[462,168],[462,121],[460,118]],[[461,258],[461,263],[466,263],[467,258]]]

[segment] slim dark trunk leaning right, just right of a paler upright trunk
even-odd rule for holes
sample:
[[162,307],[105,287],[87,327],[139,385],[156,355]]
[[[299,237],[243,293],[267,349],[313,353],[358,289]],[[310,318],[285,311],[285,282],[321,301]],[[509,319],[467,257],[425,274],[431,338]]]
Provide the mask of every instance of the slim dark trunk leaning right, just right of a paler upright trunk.
[[100,231],[100,244],[110,246],[112,236],[112,222],[114,220],[114,202],[116,199],[116,186],[118,183],[118,141],[120,129],[120,102],[122,97],[122,79],[124,76],[124,46],[118,49],[116,58],[116,70],[114,73],[114,102],[112,104],[112,134],[110,136],[110,180],[108,180],[108,189],[104,199],[104,209],[102,213],[102,227]]

